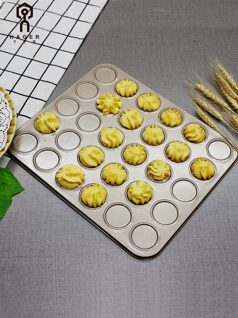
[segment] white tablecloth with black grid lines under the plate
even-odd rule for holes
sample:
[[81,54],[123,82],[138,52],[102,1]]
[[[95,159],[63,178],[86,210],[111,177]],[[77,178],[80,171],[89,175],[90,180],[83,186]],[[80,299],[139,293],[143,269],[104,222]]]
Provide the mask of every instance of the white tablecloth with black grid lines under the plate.
[[[17,17],[24,0],[0,2],[0,85],[15,104],[17,128],[44,107],[107,1],[26,0],[29,32],[26,24],[20,32],[20,22],[30,9]],[[3,156],[0,167],[8,161]]]

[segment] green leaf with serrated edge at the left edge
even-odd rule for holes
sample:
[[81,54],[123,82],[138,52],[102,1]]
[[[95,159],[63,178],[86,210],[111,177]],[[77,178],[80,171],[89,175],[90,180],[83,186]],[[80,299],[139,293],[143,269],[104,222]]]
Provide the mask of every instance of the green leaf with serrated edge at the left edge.
[[11,197],[24,188],[8,168],[0,168],[0,220],[11,204]]

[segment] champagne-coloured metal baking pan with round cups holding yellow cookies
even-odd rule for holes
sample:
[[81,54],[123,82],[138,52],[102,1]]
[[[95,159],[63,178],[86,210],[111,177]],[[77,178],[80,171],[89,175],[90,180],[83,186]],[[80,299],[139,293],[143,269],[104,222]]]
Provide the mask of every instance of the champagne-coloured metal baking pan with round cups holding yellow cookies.
[[[135,81],[137,91],[133,96],[122,97],[116,92],[116,85],[122,79]],[[117,114],[103,114],[96,106],[96,100],[103,94],[118,95],[122,107]],[[156,94],[161,102],[155,111],[144,111],[138,107],[138,97]],[[120,116],[124,110],[134,108],[142,114],[142,124],[135,129],[124,128]],[[161,114],[167,109],[176,109],[182,115],[178,126],[166,126]],[[29,171],[58,197],[83,215],[125,251],[139,259],[158,256],[169,241],[182,228],[191,215],[206,199],[209,193],[226,175],[237,160],[237,152],[216,131],[205,125],[182,108],[176,106],[159,93],[111,64],[94,67],[75,84],[43,108],[41,113],[57,115],[59,128],[50,134],[36,130],[36,114],[15,133],[9,148],[9,155]],[[206,132],[203,142],[189,142],[184,128],[191,123],[199,124]],[[164,138],[160,144],[144,141],[143,132],[148,126],[157,125]],[[115,127],[123,134],[122,144],[111,149],[100,141],[103,128]],[[172,142],[186,142],[189,156],[183,162],[171,161],[166,149]],[[124,159],[125,149],[131,145],[142,145],[146,158],[140,164],[129,164]],[[79,159],[82,147],[96,146],[102,150],[104,160],[94,168],[85,167]],[[200,180],[191,171],[192,163],[203,157],[215,167],[210,179]],[[152,161],[162,160],[169,165],[170,175],[163,180],[154,180],[148,173]],[[106,183],[102,171],[110,163],[122,164],[127,179],[117,185]],[[83,169],[85,180],[82,185],[68,190],[56,180],[56,173],[62,166],[71,164]],[[148,203],[135,204],[127,195],[129,186],[145,181],[152,188]],[[81,199],[85,187],[101,184],[107,197],[101,207],[89,207]]]

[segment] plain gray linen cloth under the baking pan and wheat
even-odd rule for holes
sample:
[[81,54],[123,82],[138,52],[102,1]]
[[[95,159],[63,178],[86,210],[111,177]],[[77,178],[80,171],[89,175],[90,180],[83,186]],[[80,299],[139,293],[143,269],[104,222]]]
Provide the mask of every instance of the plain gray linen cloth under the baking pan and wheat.
[[[195,114],[183,82],[216,56],[238,81],[236,1],[110,0],[47,103],[111,63]],[[238,144],[230,129],[215,120]],[[0,317],[238,317],[237,164],[155,259],[122,250],[10,160]]]

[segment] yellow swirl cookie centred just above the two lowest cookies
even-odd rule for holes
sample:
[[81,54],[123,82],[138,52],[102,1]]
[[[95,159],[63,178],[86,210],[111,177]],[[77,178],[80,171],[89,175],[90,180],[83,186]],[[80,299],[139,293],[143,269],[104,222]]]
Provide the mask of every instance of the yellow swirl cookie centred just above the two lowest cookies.
[[127,173],[126,170],[122,168],[122,164],[110,163],[102,171],[102,178],[106,180],[106,183],[121,184],[126,181]]

